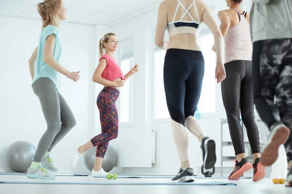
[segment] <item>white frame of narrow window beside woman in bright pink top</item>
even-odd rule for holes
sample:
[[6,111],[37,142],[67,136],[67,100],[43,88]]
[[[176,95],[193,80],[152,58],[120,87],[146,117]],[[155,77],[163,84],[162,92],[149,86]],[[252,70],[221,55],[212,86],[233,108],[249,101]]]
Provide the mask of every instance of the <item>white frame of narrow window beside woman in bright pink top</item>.
[[[133,41],[133,38],[128,38],[128,39],[125,39],[125,40],[122,40],[122,41],[120,41],[121,43],[122,42],[127,42],[127,41]],[[122,62],[123,61],[127,61],[127,60],[130,60],[130,59],[132,59],[132,61],[130,61],[130,68],[134,65],[133,63],[133,61],[134,61],[134,55],[132,56],[132,57],[128,57],[128,58],[126,58],[126,59],[123,59],[123,61],[122,61],[122,48],[120,47],[120,49],[119,49],[119,66],[121,67],[121,65],[122,65]],[[127,74],[128,72],[123,72],[124,74]],[[129,93],[129,101],[130,101],[130,103],[129,103],[129,122],[124,122],[124,123],[122,123],[121,122],[121,117],[119,116],[119,127],[128,127],[128,126],[132,126],[133,125],[133,94],[134,94],[134,84],[133,84],[133,78],[132,77],[130,77],[129,78],[129,84],[130,84],[130,87],[129,87],[129,91],[130,91],[130,93]],[[122,92],[121,92],[121,95],[122,95]],[[118,109],[118,115],[121,115],[122,113],[121,113],[121,99],[122,98],[119,98],[118,99],[118,103],[117,103],[117,109]]]

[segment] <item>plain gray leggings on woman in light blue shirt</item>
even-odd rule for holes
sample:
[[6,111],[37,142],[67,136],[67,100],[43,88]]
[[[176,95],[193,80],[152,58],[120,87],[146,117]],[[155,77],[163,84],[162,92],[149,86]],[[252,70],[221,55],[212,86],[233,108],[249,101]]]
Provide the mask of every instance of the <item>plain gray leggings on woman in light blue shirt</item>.
[[37,145],[33,159],[34,162],[41,162],[45,153],[50,152],[76,125],[76,120],[64,97],[49,78],[39,78],[33,83],[33,90],[39,98],[48,126]]

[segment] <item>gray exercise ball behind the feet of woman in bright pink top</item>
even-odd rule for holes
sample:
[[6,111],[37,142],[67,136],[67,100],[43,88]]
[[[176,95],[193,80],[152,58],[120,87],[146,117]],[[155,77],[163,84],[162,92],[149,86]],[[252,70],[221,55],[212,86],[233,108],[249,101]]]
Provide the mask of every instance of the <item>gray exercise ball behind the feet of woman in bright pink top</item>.
[[[87,150],[83,154],[83,162],[86,168],[90,171],[93,169],[95,158],[96,158],[96,146]],[[113,169],[113,167],[116,166],[116,163],[117,163],[117,154],[114,151],[114,149],[109,145],[101,167],[104,169],[104,171],[110,172]]]

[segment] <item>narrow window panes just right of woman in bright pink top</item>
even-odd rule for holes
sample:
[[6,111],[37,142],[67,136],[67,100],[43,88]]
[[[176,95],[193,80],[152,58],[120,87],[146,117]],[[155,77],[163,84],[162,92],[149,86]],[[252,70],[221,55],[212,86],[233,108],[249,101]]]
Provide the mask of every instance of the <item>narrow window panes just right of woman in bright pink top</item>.
[[[120,43],[120,65],[121,69],[126,75],[133,66],[133,42],[126,40]],[[130,123],[132,122],[132,102],[133,102],[133,81],[130,77],[125,86],[120,88],[120,97],[118,102],[119,122]]]

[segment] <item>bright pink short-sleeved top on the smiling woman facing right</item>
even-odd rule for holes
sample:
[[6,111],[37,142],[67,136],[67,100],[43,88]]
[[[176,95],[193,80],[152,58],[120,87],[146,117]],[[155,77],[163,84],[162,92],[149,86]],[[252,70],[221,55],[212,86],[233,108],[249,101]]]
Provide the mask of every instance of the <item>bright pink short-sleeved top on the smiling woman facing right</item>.
[[121,78],[121,80],[125,80],[124,74],[122,72],[121,67],[115,62],[113,57],[109,55],[102,55],[99,61],[105,58],[107,60],[107,66],[101,74],[101,77],[113,81],[114,79]]

